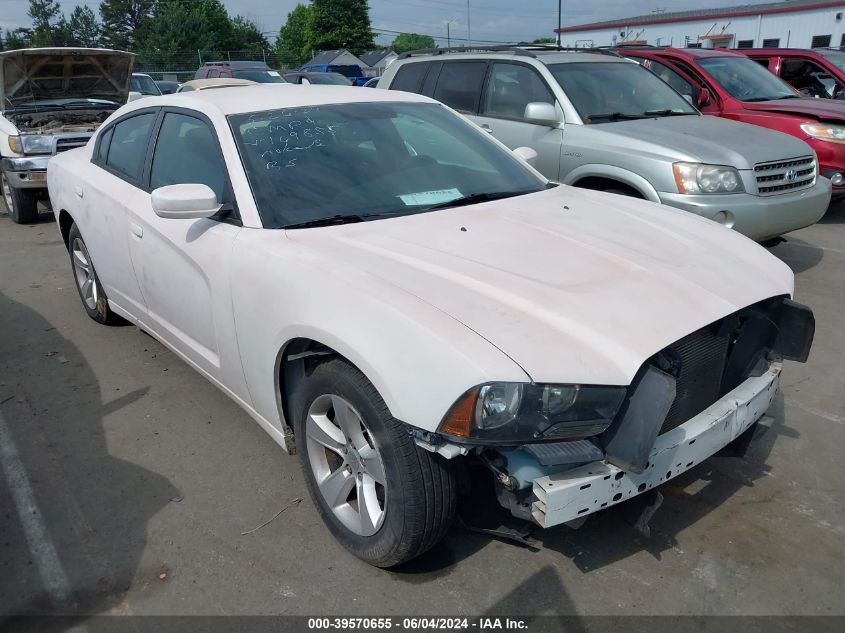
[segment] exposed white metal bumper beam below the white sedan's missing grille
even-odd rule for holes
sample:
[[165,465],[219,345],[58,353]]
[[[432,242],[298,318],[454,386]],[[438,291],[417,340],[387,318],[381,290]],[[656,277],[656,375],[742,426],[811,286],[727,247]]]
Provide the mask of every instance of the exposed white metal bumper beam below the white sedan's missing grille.
[[739,437],[769,408],[780,382],[781,364],[748,378],[684,424],[660,435],[640,473],[603,461],[539,477],[533,482],[531,515],[551,527],[635,497],[677,477]]

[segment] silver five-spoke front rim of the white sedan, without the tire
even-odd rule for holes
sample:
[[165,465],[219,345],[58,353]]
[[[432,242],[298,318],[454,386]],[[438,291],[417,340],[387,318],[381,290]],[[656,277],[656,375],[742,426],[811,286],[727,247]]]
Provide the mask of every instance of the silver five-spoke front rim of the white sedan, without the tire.
[[378,532],[387,507],[384,463],[361,415],[340,396],[319,396],[305,435],[314,480],[334,515],[358,536]]

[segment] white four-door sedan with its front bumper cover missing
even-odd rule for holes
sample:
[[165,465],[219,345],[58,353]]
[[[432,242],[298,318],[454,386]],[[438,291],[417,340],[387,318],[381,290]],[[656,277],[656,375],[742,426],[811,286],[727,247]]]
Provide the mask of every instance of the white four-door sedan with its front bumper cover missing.
[[387,567],[446,534],[467,463],[516,516],[583,518],[751,437],[809,354],[786,264],[531,154],[417,95],[253,86],[128,104],[48,182],[89,316],[296,449]]

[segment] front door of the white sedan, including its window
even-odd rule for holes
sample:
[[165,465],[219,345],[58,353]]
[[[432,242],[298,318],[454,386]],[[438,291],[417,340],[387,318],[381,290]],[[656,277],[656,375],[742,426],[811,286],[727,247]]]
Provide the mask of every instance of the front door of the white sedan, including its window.
[[[154,137],[147,186],[131,208],[129,249],[149,327],[248,400],[231,305],[231,254],[241,223],[217,135],[203,115],[166,108]],[[196,220],[158,217],[151,192],[182,183],[208,185],[231,211]]]

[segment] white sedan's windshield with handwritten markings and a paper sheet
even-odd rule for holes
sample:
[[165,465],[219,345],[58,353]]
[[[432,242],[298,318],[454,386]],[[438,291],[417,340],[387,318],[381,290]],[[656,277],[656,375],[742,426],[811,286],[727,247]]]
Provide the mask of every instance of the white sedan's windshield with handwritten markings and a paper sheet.
[[437,104],[286,108],[229,122],[266,228],[408,215],[545,187]]

